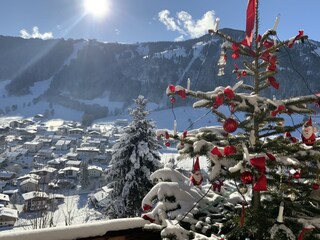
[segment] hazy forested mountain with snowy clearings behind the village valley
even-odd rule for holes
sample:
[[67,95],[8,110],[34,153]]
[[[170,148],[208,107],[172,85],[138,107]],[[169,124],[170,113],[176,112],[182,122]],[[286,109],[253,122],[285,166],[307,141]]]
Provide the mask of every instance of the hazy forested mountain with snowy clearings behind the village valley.
[[[244,32],[223,29],[236,40]],[[135,44],[102,43],[95,40],[22,39],[0,36],[0,85],[3,99],[29,96],[27,102],[0,103],[0,113],[8,114],[33,104],[61,105],[85,113],[88,120],[117,114],[139,94],[149,102],[166,105],[168,84],[187,85],[198,90],[233,85],[234,64],[228,51],[224,76],[217,76],[222,40],[204,35],[183,42]],[[319,89],[320,43],[296,43],[279,53],[280,89],[264,94],[277,98],[311,94]],[[244,78],[244,80],[246,80]],[[42,92],[34,91],[42,85]],[[97,99],[100,99],[97,104]],[[104,99],[104,101],[102,101]],[[110,102],[123,103],[117,109]],[[7,105],[6,105],[7,104]],[[54,114],[53,114],[54,115]]]

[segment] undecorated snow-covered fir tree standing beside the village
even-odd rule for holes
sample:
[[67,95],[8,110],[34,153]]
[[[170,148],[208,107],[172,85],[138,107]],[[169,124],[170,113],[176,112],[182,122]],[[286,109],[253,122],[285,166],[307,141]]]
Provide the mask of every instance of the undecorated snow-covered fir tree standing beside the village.
[[161,167],[155,125],[147,119],[147,100],[139,96],[134,101],[136,107],[130,109],[133,121],[112,148],[106,177],[112,187],[110,205],[106,208],[111,218],[141,214],[142,198],[152,187],[150,175]]

